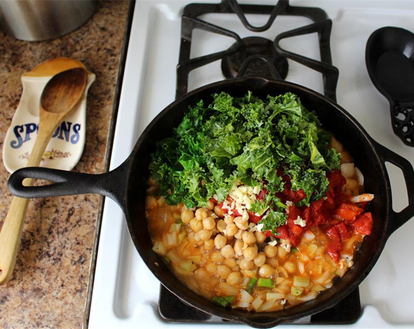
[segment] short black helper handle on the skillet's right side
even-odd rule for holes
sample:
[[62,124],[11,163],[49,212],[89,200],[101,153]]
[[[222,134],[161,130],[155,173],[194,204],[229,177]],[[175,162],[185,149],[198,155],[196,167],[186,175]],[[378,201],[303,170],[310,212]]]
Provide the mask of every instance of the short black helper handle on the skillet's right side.
[[391,235],[393,232],[400,228],[404,223],[409,221],[414,216],[414,169],[412,164],[402,156],[397,153],[387,149],[386,147],[374,142],[375,149],[380,155],[383,163],[388,161],[402,170],[405,180],[405,186],[407,187],[408,194],[408,206],[402,209],[400,212],[395,212],[390,209],[390,214],[392,220],[389,222],[387,228],[388,235]]

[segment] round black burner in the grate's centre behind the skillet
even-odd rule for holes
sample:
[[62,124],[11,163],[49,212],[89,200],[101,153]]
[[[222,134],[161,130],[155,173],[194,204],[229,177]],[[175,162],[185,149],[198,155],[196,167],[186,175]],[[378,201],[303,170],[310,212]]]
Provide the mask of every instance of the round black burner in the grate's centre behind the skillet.
[[[246,66],[246,71],[242,75],[258,74],[272,77],[270,65],[273,65],[280,77],[283,80],[286,78],[288,70],[286,57],[276,52],[272,41],[259,36],[250,36],[243,38],[242,42],[243,45],[236,53],[221,60],[224,77],[227,79],[236,77],[243,65]],[[229,50],[236,48],[237,44],[234,43]]]

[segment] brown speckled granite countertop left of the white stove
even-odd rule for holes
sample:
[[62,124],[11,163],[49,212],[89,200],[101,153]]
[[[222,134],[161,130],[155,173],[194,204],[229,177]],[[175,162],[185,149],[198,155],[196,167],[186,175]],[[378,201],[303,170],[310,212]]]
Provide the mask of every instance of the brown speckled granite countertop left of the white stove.
[[[69,57],[96,74],[87,98],[86,143],[74,171],[106,170],[128,9],[125,1],[99,2],[83,26],[51,41],[20,41],[0,31],[1,148],[22,95],[22,74],[45,60]],[[12,195],[10,174],[0,163],[2,226]],[[1,328],[86,326],[101,202],[99,195],[31,200],[12,279],[0,286]]]

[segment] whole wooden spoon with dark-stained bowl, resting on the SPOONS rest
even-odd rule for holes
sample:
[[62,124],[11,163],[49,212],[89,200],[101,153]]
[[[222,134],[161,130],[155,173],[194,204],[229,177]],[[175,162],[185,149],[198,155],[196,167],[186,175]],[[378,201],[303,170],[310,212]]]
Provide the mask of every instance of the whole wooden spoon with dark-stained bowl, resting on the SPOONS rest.
[[[63,120],[76,107],[84,94],[87,71],[76,67],[54,75],[43,89],[39,108],[39,132],[27,161],[38,167],[46,146]],[[32,186],[34,179],[25,180]],[[10,280],[20,246],[24,217],[29,199],[13,197],[0,233],[0,284]]]

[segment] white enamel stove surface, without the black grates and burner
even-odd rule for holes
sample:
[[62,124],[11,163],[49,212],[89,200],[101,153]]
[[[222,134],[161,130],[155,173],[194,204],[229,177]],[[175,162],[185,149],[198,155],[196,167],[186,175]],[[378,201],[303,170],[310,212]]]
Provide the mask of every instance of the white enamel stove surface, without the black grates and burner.
[[[195,2],[195,1],[193,1]],[[207,2],[200,1],[200,2]],[[214,1],[214,2],[218,2]],[[274,4],[275,1],[250,1]],[[180,15],[187,1],[140,1],[135,13],[126,59],[118,120],[111,160],[116,168],[130,154],[144,127],[175,97],[176,64],[180,45]],[[246,1],[240,1],[246,3]],[[380,144],[414,163],[414,150],[400,142],[391,129],[389,104],[374,88],[365,66],[365,45],[370,34],[382,26],[414,31],[411,1],[291,1],[291,5],[323,8],[333,21],[332,62],[339,69],[337,102],[347,109]],[[235,29],[242,37],[253,33],[240,29],[233,15],[208,14],[203,19]],[[248,16],[253,25],[263,25],[265,15]],[[277,33],[311,21],[303,17],[278,17]],[[260,36],[274,38],[275,33]],[[195,31],[192,58],[227,49],[233,39]],[[203,40],[201,42],[201,40]],[[319,59],[317,36],[284,39],[281,46]],[[220,62],[190,73],[189,91],[223,79]],[[322,92],[322,78],[289,60],[286,80]],[[390,168],[395,211],[407,204],[402,175]],[[349,328],[414,327],[414,220],[397,230],[374,269],[360,286],[363,314]],[[159,282],[142,262],[132,245],[120,208],[106,198],[93,286],[89,328],[222,328],[223,324],[173,324],[158,315]],[[235,324],[232,328],[246,328]],[[290,329],[303,325],[280,326]],[[335,327],[335,326],[323,326]]]

